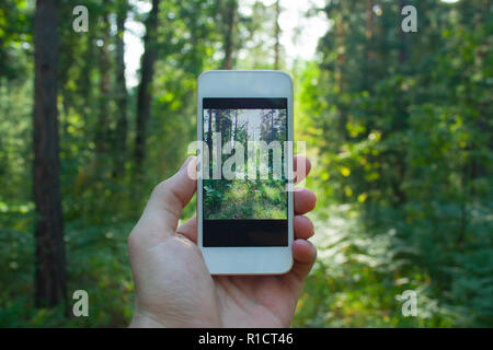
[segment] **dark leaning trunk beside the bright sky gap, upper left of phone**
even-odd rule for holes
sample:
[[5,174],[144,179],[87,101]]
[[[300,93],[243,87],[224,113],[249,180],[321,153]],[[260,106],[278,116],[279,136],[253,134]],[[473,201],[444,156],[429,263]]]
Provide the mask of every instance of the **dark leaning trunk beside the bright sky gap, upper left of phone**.
[[156,61],[154,35],[158,27],[159,0],[152,0],[152,10],[146,21],[146,36],[144,37],[144,55],[140,68],[140,84],[137,95],[137,130],[135,138],[135,173],[140,174],[146,156],[147,124],[150,118],[150,89]]

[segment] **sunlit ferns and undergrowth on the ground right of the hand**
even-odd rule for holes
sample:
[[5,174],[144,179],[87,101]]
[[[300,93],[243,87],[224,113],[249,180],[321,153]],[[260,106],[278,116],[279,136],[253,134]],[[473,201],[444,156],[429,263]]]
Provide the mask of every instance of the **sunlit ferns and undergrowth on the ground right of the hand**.
[[[395,259],[395,231],[369,232],[351,205],[308,214],[316,228],[311,241],[316,265],[305,283],[297,327],[448,327],[449,315],[428,296],[429,279]],[[400,295],[417,293],[419,314],[404,316]]]

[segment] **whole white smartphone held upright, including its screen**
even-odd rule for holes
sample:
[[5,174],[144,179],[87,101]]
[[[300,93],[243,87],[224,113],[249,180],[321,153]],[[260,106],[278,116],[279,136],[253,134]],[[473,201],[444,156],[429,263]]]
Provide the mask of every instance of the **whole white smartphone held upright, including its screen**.
[[198,246],[211,275],[293,267],[293,81],[217,70],[197,83]]

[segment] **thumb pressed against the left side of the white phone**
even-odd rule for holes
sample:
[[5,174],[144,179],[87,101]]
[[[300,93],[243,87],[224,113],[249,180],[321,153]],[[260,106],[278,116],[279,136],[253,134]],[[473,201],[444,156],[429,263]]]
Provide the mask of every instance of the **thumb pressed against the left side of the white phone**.
[[176,230],[182,210],[197,187],[197,182],[190,174],[190,168],[194,166],[196,158],[191,156],[176,174],[154,187],[140,221],[169,234]]

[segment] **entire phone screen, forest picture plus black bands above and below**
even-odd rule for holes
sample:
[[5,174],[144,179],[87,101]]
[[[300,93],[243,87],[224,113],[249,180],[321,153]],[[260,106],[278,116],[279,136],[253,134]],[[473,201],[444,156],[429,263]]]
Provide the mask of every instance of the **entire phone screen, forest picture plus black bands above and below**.
[[287,98],[203,98],[203,246],[288,245]]

